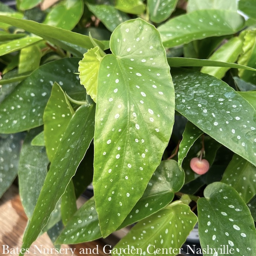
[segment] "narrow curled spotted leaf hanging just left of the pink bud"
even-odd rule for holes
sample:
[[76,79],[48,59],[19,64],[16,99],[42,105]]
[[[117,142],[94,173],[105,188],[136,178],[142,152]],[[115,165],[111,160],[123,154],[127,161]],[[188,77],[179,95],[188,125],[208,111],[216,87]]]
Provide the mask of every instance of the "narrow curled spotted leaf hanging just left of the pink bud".
[[196,125],[187,122],[178,151],[178,166],[180,170],[182,170],[181,165],[184,158],[187,156],[188,151],[203,133],[204,132],[197,128]]

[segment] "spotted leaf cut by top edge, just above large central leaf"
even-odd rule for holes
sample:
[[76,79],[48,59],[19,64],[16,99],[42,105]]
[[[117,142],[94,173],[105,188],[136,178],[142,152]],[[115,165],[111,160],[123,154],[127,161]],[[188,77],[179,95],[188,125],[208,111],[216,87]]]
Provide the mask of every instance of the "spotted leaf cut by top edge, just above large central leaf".
[[148,12],[152,22],[160,23],[166,20],[174,11],[178,0],[149,0]]

